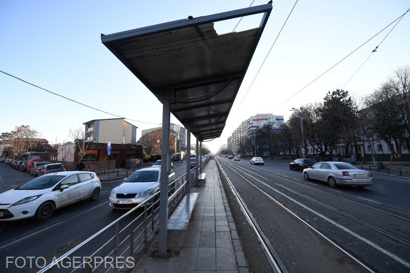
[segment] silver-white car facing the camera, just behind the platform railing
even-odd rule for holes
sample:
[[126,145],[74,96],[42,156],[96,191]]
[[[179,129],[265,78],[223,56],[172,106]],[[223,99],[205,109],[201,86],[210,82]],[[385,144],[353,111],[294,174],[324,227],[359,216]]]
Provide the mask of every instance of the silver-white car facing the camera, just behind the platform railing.
[[[160,190],[160,168],[145,168],[132,173],[124,182],[113,188],[108,205],[113,208],[132,208],[144,202]],[[175,173],[168,172],[169,191],[175,184]],[[159,199],[159,194],[152,198],[148,205]]]

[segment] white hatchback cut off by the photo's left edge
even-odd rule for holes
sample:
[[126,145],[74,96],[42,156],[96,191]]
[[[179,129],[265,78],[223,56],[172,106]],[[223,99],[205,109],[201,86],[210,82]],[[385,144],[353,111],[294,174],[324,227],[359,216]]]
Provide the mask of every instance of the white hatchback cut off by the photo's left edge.
[[97,200],[101,183],[93,172],[57,172],[0,194],[0,221],[49,218],[54,209],[79,200]]

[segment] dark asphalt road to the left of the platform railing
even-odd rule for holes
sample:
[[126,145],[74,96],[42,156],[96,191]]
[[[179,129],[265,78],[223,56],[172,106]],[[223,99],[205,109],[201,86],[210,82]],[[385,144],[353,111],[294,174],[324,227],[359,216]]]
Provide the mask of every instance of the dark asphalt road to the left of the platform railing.
[[[185,171],[185,164],[174,166],[176,177]],[[28,173],[18,172],[4,163],[0,164],[0,192],[11,190],[31,179],[34,177]],[[36,272],[39,268],[35,259],[41,257],[37,264],[42,266],[44,257],[48,264],[54,257],[60,257],[124,215],[128,210],[108,206],[111,190],[122,181],[124,180],[118,179],[101,183],[102,191],[98,200],[84,200],[59,208],[44,221],[31,218],[0,222],[0,272],[22,272],[23,269],[18,267],[23,265],[24,272]],[[105,236],[107,241],[113,234],[114,230]],[[31,266],[27,257],[36,257],[32,258]]]

